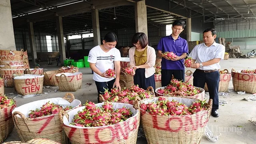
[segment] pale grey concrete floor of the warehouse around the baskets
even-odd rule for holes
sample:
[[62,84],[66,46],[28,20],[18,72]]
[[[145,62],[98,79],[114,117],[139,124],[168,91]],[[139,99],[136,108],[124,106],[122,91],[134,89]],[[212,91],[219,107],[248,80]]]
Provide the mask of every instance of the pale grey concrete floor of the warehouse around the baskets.
[[[232,68],[236,70],[241,69],[255,69],[256,59],[229,59],[222,60],[220,62],[222,69],[228,69],[231,71]],[[56,70],[56,64],[54,65],[41,65],[41,68],[46,68],[48,70]],[[59,66],[60,67],[60,66]],[[31,66],[32,68],[32,66]],[[92,72],[90,68],[80,68],[80,72],[83,73],[83,82],[82,88],[76,92],[72,92],[76,99],[80,100],[82,103],[85,103],[86,100],[97,103],[97,90],[92,80]],[[194,71],[194,70],[192,70]],[[89,86],[87,83],[92,83]],[[229,89],[233,89],[232,80],[230,81]],[[44,89],[44,92],[48,92],[51,89]],[[58,86],[53,87],[53,90],[58,90]],[[5,88],[5,94],[15,92],[14,88]],[[21,106],[28,102],[33,102],[36,100],[42,100],[46,98],[56,98],[63,97],[66,92],[48,92],[48,94],[43,94],[42,96],[35,96],[30,98],[16,98],[17,106]],[[226,100],[228,104],[220,106],[218,112],[220,114],[219,118],[210,117],[208,122],[208,127],[214,134],[218,135],[219,140],[216,144],[255,144],[256,143],[256,126],[253,124],[256,122],[256,101],[248,102],[243,100],[244,97],[250,96],[251,94],[239,95],[235,92],[229,93],[228,96],[219,96],[220,100]],[[209,96],[206,96],[209,98]],[[252,120],[255,122],[249,122]],[[238,127],[242,126],[242,127]],[[20,138],[16,130],[6,138],[4,142],[10,141],[19,141]],[[202,137],[201,144],[212,144],[206,139],[205,136]],[[138,138],[137,144],[147,144],[145,138]]]

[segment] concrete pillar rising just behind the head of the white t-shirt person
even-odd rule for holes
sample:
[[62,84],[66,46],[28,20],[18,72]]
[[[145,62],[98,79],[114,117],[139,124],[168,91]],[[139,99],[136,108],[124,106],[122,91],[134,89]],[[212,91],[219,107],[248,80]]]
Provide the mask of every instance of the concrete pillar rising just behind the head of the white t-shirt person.
[[94,46],[100,45],[100,22],[98,9],[92,8],[92,29]]

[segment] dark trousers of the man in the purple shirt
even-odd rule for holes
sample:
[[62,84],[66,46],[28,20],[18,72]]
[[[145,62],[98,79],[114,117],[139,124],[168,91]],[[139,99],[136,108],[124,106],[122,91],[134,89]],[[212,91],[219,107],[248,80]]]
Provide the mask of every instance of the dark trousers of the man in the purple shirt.
[[167,86],[172,80],[172,75],[178,80],[185,82],[185,70],[161,70],[162,86]]

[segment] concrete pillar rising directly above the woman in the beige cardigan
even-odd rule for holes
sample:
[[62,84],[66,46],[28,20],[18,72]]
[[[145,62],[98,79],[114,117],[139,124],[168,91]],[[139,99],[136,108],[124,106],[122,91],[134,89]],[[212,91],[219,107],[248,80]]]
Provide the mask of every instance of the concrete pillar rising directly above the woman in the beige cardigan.
[[145,0],[135,4],[136,32],[144,32],[148,36],[147,7]]

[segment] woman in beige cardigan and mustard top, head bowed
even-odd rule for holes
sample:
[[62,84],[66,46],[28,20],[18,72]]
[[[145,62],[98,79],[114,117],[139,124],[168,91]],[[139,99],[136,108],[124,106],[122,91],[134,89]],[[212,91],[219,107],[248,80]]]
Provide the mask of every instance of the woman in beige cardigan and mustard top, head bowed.
[[148,38],[143,32],[134,34],[132,44],[134,47],[130,48],[129,57],[130,67],[135,70],[133,72],[134,84],[138,84],[143,89],[147,89],[148,86],[152,86],[155,89],[155,49],[148,46]]

